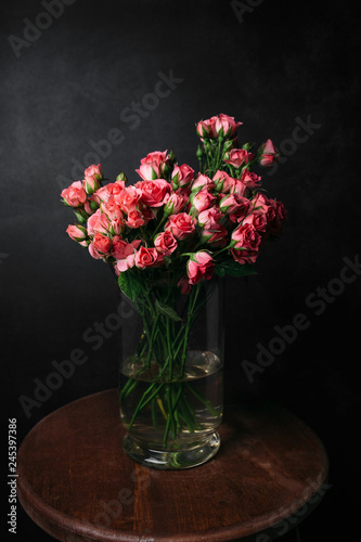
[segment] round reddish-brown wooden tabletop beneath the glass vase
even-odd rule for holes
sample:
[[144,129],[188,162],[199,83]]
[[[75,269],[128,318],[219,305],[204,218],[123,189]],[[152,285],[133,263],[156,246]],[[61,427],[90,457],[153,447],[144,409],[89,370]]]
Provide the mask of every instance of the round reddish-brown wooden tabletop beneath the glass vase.
[[18,450],[18,499],[56,540],[267,542],[320,502],[327,456],[300,420],[274,404],[224,409],[221,449],[186,470],[153,470],[124,452],[117,390],[74,401],[38,423]]

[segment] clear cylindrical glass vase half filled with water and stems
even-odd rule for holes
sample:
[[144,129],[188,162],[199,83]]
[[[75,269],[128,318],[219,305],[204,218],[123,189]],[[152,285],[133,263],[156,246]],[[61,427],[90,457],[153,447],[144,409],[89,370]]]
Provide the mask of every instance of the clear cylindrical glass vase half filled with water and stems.
[[134,302],[121,295],[124,450],[157,469],[201,465],[220,447],[222,281],[202,281],[183,294],[167,280],[154,281]]

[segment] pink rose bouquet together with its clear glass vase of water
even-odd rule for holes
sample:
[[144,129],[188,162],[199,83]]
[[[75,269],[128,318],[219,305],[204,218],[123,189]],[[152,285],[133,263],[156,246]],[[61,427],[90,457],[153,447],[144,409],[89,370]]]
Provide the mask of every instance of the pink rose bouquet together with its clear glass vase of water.
[[112,267],[131,306],[119,367],[124,448],[155,468],[198,465],[217,452],[220,280],[254,274],[286,216],[252,171],[273,164],[278,151],[270,140],[255,152],[240,146],[241,124],[220,114],[196,125],[197,173],[172,152],[153,152],[133,184],[124,172],[104,183],[93,165],[62,192],[77,219],[68,235]]

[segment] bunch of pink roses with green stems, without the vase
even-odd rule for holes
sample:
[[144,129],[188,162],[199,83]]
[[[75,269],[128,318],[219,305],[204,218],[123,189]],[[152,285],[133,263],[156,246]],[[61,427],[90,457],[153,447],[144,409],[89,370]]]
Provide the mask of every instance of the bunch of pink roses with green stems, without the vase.
[[[201,289],[215,275],[255,273],[262,245],[280,235],[286,216],[252,171],[273,164],[278,152],[270,140],[255,152],[249,143],[238,146],[241,124],[220,114],[196,125],[197,173],[179,165],[172,152],[153,152],[141,160],[134,184],[124,172],[104,184],[101,165],[93,165],[62,192],[77,219],[67,233],[114,268],[121,292],[142,317],[136,376],[124,384],[120,402],[156,364],[127,425],[130,430],[144,409],[158,409],[164,446],[169,431],[176,437],[184,426],[191,433],[198,428],[188,403],[192,387],[183,380],[189,334],[206,302]],[[204,403],[211,413],[209,401]]]

